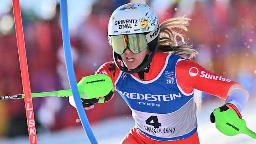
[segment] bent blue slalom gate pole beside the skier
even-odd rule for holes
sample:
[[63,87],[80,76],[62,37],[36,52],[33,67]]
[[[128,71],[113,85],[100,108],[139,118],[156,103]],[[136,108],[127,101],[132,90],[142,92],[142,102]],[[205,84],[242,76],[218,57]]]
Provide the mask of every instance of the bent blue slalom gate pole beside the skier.
[[84,108],[82,106],[80,95],[77,88],[76,76],[74,72],[74,66],[73,66],[72,54],[71,54],[71,44],[70,44],[70,38],[69,38],[68,19],[67,19],[67,0],[61,0],[60,4],[61,4],[61,31],[62,31],[62,40],[63,40],[65,63],[67,68],[69,85],[70,85],[72,94],[74,96],[76,110],[78,112],[78,116],[85,130],[85,133],[87,134],[87,137],[91,142],[91,144],[98,144],[91,130],[91,126],[89,124]]

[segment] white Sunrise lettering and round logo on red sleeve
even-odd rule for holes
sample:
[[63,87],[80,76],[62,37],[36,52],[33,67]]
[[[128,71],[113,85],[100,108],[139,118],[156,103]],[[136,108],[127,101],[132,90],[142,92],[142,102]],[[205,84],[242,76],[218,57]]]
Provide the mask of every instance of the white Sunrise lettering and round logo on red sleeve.
[[[197,74],[199,74],[198,68],[192,67],[192,68],[189,69],[189,75],[190,76],[194,77],[194,76],[197,76]],[[214,75],[214,74],[209,74],[209,73],[207,73],[203,70],[200,72],[200,77],[201,78],[208,78],[208,79],[211,79],[211,80],[220,80],[220,81],[231,82],[230,79],[224,78],[222,76]]]

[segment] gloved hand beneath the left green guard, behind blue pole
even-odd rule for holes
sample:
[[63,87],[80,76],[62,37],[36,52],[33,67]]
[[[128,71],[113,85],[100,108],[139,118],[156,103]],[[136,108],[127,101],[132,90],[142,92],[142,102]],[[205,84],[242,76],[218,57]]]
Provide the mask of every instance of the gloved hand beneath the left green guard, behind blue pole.
[[[85,108],[85,109],[91,109],[93,108],[92,106],[95,104],[95,103],[102,103],[102,102],[107,102],[109,101],[112,96],[113,96],[113,91],[110,91],[108,93],[108,95],[106,96],[102,96],[102,97],[96,97],[96,98],[93,98],[93,99],[83,99],[81,98],[81,102],[82,102],[82,106]],[[104,101],[103,101],[104,100]],[[76,104],[74,102],[74,97],[73,96],[70,96],[69,97],[69,103],[74,106],[76,108]]]

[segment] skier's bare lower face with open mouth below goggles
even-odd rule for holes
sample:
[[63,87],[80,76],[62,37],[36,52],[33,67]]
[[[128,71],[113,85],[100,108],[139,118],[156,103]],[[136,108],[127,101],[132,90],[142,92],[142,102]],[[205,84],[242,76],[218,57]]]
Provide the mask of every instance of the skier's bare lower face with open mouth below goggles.
[[132,53],[130,49],[125,49],[124,53],[121,55],[121,58],[124,65],[128,69],[135,69],[143,62],[145,56],[150,55],[150,53],[151,51],[148,49],[148,47],[137,54]]

